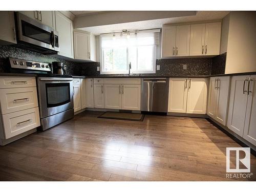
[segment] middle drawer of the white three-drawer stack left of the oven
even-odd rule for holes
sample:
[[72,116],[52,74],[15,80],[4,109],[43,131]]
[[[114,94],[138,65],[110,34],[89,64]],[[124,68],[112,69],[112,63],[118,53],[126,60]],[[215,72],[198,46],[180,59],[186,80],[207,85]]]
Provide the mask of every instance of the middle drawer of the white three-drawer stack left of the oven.
[[38,106],[36,87],[0,90],[2,115]]

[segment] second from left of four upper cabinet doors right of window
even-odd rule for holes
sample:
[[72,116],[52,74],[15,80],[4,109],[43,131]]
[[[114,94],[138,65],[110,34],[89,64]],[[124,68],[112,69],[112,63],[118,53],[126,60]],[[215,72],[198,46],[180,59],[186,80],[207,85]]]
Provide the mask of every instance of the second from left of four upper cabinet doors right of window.
[[177,26],[176,29],[176,56],[189,55],[190,25]]

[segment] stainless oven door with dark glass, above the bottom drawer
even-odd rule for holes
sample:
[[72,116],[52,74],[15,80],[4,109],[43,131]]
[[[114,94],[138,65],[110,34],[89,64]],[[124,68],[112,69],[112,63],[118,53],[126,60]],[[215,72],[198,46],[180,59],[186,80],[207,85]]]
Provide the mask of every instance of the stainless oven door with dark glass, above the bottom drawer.
[[72,78],[38,78],[40,118],[74,108]]

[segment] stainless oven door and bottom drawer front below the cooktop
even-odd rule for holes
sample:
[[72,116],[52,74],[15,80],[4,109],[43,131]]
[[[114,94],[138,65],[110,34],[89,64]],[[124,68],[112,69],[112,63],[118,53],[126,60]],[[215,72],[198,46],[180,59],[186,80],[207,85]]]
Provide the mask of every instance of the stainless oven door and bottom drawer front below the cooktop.
[[73,78],[38,77],[42,130],[74,117]]

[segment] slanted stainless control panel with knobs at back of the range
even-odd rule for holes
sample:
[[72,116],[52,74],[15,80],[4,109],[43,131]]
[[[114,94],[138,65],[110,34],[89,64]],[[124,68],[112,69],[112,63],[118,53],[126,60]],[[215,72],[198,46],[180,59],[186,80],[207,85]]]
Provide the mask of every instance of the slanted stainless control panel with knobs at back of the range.
[[23,59],[9,58],[11,68],[24,69],[24,70],[39,70],[39,71],[51,71],[51,67],[48,63],[29,61]]

